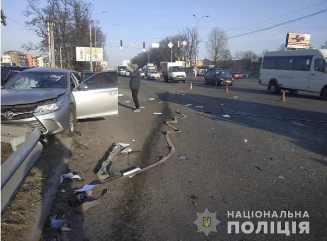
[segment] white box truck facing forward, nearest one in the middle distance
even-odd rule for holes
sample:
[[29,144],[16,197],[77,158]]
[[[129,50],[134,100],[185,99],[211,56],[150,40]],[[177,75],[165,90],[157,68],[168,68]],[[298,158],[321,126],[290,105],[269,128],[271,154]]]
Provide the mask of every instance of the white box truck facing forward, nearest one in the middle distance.
[[180,82],[186,81],[186,73],[183,67],[183,62],[161,62],[161,75],[165,82]]

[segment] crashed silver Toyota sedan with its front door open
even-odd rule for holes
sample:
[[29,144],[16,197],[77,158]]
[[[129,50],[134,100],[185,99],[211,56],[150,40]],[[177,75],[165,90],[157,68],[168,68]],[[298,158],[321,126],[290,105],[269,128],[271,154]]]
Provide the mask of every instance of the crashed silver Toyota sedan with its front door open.
[[1,90],[1,125],[73,136],[78,119],[118,115],[117,72],[99,72],[81,84],[79,79],[60,68],[16,74]]

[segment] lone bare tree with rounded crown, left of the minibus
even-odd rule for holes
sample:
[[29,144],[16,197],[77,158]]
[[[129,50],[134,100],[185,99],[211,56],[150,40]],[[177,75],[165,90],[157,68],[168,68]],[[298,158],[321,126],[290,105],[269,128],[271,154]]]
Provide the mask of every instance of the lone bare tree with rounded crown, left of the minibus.
[[208,35],[207,50],[214,64],[222,57],[227,48],[227,35],[225,30],[214,28]]

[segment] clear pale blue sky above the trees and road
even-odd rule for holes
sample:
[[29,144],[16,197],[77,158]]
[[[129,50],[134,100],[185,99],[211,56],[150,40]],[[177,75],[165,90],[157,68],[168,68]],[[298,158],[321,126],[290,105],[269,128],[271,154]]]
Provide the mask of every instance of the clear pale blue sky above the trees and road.
[[[161,38],[170,36],[171,33],[179,33],[183,27],[195,26],[196,21],[193,14],[198,17],[210,16],[209,18],[202,19],[199,25],[199,36],[202,40],[199,55],[200,59],[203,59],[208,57],[205,41],[207,40],[208,33],[214,27],[225,29],[228,36],[233,36],[270,27],[327,9],[327,2],[325,2],[283,17],[243,27],[321,3],[323,0],[94,0],[89,2],[92,2],[95,6],[93,17],[100,22],[104,33],[108,34],[107,46],[105,48],[111,66],[121,64],[123,59],[130,59],[141,49],[124,48],[121,50],[110,46],[118,46],[120,40],[123,40],[125,46],[129,46],[131,41],[134,41],[136,47],[142,47],[142,42],[145,41],[146,47],[148,47],[152,42],[157,42]],[[42,5],[45,1],[40,0],[40,3]],[[22,14],[26,6],[26,0],[1,1],[1,9],[5,11],[5,14],[21,24],[24,24],[27,20]],[[99,12],[107,13],[97,14]],[[10,49],[20,50],[24,42],[39,42],[40,39],[33,35],[33,33],[25,30],[24,26],[10,19],[7,19],[7,22],[8,26],[1,26],[2,53]],[[119,26],[119,24],[138,25],[139,27]],[[236,28],[237,30],[235,30]],[[230,39],[228,47],[232,54],[237,50],[252,50],[257,53],[260,53],[265,48],[276,50],[280,44],[285,42],[287,32],[309,33],[311,34],[311,45],[319,47],[327,40],[327,12],[272,30]]]

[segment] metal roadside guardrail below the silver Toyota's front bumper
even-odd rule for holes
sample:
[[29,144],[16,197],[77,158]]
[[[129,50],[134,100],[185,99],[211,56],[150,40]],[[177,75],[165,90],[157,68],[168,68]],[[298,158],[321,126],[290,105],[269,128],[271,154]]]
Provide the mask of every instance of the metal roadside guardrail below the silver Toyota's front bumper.
[[[2,126],[3,133],[3,126]],[[39,141],[41,132],[37,129],[20,144],[14,153],[1,165],[1,212],[13,200],[15,194],[42,153]]]

